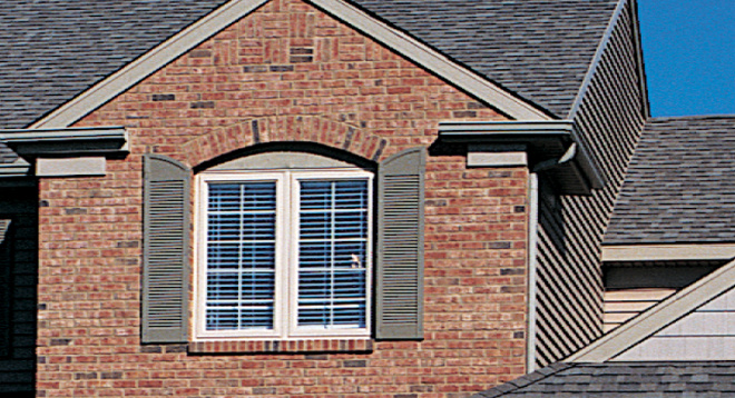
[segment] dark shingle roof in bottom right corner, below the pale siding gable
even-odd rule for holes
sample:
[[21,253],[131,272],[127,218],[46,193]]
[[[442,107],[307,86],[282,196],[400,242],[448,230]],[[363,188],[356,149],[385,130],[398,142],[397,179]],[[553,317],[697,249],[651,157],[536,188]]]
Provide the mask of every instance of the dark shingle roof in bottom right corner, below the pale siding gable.
[[735,361],[556,364],[473,398],[725,398]]

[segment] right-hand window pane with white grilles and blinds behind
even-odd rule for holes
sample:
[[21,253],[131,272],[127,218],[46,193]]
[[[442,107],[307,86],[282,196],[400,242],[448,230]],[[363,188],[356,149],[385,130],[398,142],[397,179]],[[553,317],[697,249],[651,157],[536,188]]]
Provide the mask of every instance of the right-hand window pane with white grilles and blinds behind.
[[367,180],[300,183],[298,326],[364,328]]

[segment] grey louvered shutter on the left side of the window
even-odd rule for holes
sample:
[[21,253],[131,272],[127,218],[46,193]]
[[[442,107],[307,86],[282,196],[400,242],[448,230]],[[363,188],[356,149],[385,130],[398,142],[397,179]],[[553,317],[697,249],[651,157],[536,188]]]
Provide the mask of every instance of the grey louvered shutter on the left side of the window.
[[188,340],[189,169],[144,158],[143,342]]

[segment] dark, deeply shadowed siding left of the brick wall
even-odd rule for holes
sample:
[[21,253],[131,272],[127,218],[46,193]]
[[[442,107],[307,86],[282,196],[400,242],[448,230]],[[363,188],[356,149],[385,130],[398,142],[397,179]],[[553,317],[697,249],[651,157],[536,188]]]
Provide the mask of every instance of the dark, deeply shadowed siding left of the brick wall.
[[[33,391],[36,371],[36,286],[38,285],[37,193],[28,188],[2,188],[0,222],[9,223],[0,241],[2,316],[8,327],[0,352],[0,395]],[[18,395],[14,395],[18,396]]]

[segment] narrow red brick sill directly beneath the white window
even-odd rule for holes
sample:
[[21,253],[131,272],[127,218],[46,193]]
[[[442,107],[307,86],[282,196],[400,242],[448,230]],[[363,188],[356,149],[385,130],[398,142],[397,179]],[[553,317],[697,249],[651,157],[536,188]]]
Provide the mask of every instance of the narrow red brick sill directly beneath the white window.
[[372,352],[370,339],[192,341],[189,354]]

